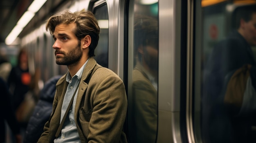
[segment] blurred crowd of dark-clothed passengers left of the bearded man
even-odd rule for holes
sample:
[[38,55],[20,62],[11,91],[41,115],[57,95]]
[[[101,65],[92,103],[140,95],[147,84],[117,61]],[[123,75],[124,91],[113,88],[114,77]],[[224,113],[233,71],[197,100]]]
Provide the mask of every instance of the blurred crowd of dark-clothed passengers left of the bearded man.
[[35,143],[52,111],[55,84],[60,76],[38,87],[40,73],[29,70],[26,48],[18,49],[16,62],[0,54],[0,143]]

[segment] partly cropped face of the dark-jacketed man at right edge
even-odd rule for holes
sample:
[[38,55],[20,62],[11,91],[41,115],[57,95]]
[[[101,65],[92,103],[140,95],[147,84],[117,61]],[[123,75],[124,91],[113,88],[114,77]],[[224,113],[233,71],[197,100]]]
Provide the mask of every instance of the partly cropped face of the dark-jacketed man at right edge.
[[252,20],[243,25],[245,40],[251,46],[256,46],[256,13],[253,13]]

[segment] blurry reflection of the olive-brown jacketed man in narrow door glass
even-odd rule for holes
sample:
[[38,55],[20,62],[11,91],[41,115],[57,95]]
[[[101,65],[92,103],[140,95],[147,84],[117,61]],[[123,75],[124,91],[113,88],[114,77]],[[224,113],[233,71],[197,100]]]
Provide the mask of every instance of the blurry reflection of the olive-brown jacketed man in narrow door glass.
[[158,22],[137,17],[134,27],[131,143],[155,143],[157,132]]

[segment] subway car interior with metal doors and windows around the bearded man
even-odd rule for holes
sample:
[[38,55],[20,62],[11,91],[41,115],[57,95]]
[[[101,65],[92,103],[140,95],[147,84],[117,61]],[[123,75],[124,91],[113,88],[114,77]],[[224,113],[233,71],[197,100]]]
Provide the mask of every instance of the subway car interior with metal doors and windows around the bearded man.
[[46,21],[83,9],[100,27],[94,59],[124,82],[128,143],[256,142],[256,0],[1,0],[0,77],[25,49],[36,98],[22,138],[45,83],[68,71]]

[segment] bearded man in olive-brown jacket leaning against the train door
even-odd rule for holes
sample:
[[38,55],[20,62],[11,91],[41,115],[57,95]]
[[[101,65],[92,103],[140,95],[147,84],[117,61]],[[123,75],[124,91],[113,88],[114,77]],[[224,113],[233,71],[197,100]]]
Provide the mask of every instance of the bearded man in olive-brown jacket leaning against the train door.
[[55,40],[56,64],[67,65],[69,71],[56,84],[52,115],[38,143],[127,142],[122,131],[127,110],[125,87],[114,72],[93,58],[99,40],[94,15],[65,11],[49,18],[46,29]]

